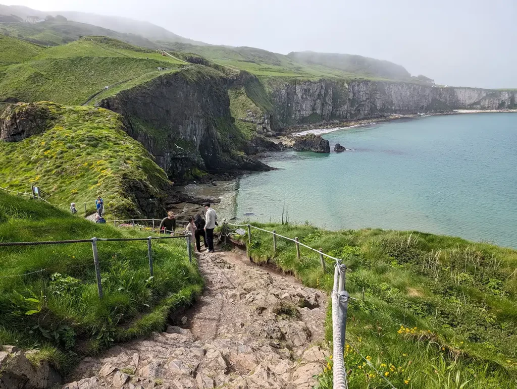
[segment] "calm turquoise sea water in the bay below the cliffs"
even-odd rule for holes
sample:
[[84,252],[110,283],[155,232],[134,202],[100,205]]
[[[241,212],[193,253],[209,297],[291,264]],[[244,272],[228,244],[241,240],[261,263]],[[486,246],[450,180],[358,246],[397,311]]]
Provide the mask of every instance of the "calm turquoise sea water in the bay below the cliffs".
[[517,114],[392,121],[323,135],[353,151],[275,153],[240,180],[237,216],[419,230],[517,248]]

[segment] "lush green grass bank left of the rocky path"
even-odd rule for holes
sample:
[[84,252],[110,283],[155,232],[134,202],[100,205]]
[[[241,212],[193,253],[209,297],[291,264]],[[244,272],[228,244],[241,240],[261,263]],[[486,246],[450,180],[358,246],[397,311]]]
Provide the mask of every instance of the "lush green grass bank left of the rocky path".
[[[40,202],[0,193],[0,241],[148,234],[97,225]],[[95,354],[115,341],[162,330],[171,309],[189,304],[202,287],[183,239],[153,241],[151,279],[145,241],[99,242],[103,300],[97,294],[89,243],[0,251],[0,345],[41,348],[39,357],[54,361],[63,372],[78,354]],[[18,274],[25,275],[14,276]]]

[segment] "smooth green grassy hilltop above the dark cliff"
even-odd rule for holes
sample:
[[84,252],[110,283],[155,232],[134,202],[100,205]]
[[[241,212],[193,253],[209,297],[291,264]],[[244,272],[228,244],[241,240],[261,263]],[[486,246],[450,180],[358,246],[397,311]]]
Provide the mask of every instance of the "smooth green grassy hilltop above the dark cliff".
[[[0,53],[0,61],[4,54]],[[148,59],[147,59],[148,58]],[[54,101],[77,105],[105,86],[163,74],[158,67],[184,64],[155,51],[105,37],[84,37],[64,46],[45,50],[23,64],[0,73],[0,100]]]

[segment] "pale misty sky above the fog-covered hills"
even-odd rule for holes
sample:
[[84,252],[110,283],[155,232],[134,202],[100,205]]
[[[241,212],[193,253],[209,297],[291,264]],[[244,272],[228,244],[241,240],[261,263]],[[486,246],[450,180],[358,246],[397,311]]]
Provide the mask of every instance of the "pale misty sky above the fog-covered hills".
[[517,88],[517,0],[0,0],[145,20],[212,44],[360,54],[437,83]]

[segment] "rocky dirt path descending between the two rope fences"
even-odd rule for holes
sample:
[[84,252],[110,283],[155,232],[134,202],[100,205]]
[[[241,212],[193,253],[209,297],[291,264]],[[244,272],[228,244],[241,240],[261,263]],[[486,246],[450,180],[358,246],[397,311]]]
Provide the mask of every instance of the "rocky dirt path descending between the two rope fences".
[[183,328],[86,358],[68,389],[311,388],[328,355],[327,295],[240,252],[201,254],[205,291]]

